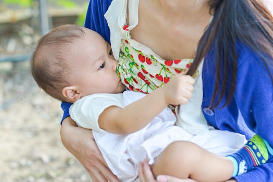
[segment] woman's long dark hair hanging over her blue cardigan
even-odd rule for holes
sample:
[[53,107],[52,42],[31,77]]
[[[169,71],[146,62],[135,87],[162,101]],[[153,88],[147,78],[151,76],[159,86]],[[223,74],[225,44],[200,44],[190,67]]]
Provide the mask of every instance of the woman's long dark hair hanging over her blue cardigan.
[[273,83],[273,73],[269,71],[269,65],[273,64],[273,17],[259,0],[209,0],[209,6],[213,19],[199,41],[196,57],[187,74],[196,72],[213,46],[216,80],[210,107],[215,108],[223,97],[226,100],[222,107],[229,104],[235,92],[238,41],[261,57]]

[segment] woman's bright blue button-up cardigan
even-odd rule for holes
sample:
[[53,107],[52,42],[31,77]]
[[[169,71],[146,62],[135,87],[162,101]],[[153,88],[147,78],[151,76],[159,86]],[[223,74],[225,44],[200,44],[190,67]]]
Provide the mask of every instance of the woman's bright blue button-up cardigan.
[[[100,33],[110,43],[110,30],[104,14],[112,0],[90,0],[85,27]],[[213,49],[212,49],[213,50]],[[238,74],[234,97],[230,104],[221,108],[208,109],[215,82],[215,57],[213,51],[204,59],[203,65],[203,103],[202,109],[208,123],[221,130],[229,130],[246,135],[249,139],[259,134],[273,146],[273,86],[268,71],[260,57],[243,43],[238,44]],[[273,73],[272,60],[269,71]],[[69,116],[70,103],[62,103],[63,118]],[[273,160],[237,176],[239,182],[273,181]]]

